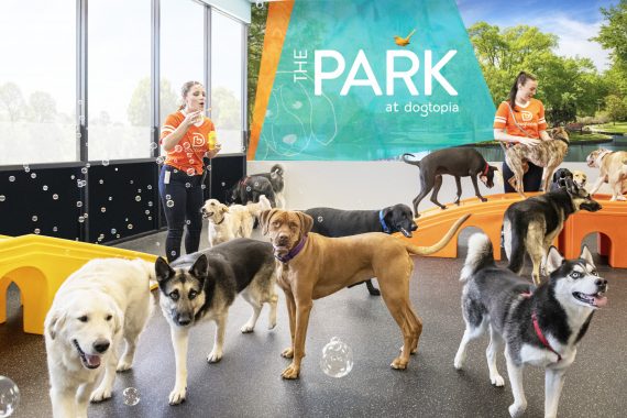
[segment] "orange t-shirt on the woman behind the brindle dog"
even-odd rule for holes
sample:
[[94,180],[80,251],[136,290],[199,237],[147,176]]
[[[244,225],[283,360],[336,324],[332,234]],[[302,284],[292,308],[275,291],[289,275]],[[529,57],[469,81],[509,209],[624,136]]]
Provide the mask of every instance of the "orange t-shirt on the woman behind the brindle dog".
[[531,98],[526,107],[521,108],[516,106],[514,110],[514,118],[516,118],[516,123],[518,127],[522,128],[522,132],[512,119],[512,112],[509,111],[509,103],[503,101],[496,114],[494,116],[494,129],[504,129],[510,135],[524,136],[524,138],[540,138],[540,131],[547,129],[547,120],[544,119],[544,106],[538,99]]

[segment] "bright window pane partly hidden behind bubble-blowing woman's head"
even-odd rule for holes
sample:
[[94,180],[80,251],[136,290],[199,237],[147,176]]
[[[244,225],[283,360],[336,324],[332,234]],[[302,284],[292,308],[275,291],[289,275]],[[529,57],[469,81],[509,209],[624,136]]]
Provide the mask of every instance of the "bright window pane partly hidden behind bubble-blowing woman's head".
[[161,1],[160,122],[178,110],[180,88],[202,82],[205,74],[205,7],[194,1]]

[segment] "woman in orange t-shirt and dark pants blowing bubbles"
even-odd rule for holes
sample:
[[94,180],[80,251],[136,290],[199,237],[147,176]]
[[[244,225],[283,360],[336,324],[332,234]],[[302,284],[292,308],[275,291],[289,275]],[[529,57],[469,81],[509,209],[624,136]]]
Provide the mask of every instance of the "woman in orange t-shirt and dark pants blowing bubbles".
[[212,158],[220,151],[213,122],[204,116],[205,87],[197,81],[187,81],[183,85],[182,97],[182,107],[168,114],[161,130],[166,158],[160,174],[158,191],[167,221],[165,249],[168,262],[180,255],[185,224],[185,251],[188,254],[198,251],[202,230],[202,157]]

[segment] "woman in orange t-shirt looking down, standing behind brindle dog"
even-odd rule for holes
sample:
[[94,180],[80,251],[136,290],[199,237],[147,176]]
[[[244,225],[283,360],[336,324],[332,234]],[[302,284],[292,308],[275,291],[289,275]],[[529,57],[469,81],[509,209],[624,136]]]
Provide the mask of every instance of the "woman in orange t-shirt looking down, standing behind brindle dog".
[[[509,97],[503,101],[494,117],[494,139],[509,147],[517,143],[535,146],[541,141],[551,141],[547,133],[544,120],[544,106],[534,99],[538,90],[538,80],[529,73],[520,72],[509,90]],[[539,191],[542,183],[542,167],[529,163],[529,169],[522,177],[525,191]],[[505,193],[514,193],[510,179],[514,173],[503,162],[503,178]]]

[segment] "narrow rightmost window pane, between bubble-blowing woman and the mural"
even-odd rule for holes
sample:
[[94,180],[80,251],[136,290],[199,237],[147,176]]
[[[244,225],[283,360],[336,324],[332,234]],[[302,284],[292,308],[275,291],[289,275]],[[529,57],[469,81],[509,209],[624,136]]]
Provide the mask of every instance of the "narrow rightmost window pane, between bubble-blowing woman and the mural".
[[242,152],[243,25],[211,12],[211,119],[222,153]]

